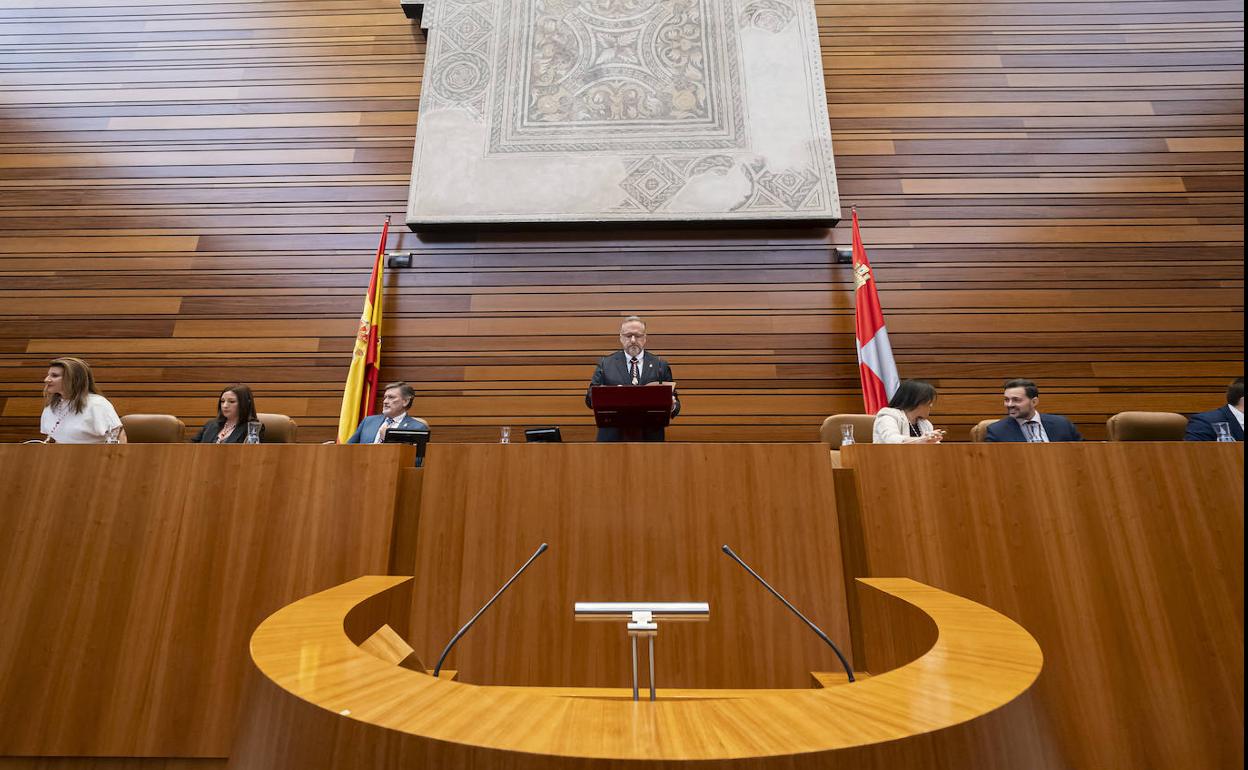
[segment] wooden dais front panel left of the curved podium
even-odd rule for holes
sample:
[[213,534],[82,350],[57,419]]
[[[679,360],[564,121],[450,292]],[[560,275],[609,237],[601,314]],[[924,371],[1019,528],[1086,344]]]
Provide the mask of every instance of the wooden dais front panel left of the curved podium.
[[251,631],[389,560],[407,447],[0,447],[0,756],[225,758]]

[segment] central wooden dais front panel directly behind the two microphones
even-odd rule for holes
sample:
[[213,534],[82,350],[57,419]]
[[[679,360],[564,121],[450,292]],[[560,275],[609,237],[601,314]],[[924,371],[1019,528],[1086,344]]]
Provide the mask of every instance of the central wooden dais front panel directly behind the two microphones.
[[840,670],[724,544],[851,654],[822,447],[434,446],[422,473],[408,640],[427,665],[550,547],[457,644],[446,665],[461,681],[628,686],[624,626],[572,621],[575,602],[710,604],[706,623],[659,629],[660,688],[805,688],[810,671]]

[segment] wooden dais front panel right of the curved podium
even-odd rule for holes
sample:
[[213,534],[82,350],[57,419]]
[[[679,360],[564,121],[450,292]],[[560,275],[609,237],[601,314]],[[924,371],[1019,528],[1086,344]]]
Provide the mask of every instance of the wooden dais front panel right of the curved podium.
[[860,444],[841,462],[849,577],[907,575],[1025,626],[1063,766],[1243,766],[1243,444]]

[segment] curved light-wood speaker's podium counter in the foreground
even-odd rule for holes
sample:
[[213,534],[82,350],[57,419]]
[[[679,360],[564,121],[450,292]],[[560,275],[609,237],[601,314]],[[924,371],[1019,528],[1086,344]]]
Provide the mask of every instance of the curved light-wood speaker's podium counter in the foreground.
[[[897,741],[988,714],[1027,690],[1042,665],[1040,645],[1008,618],[914,580],[875,578],[860,580],[859,588],[879,594],[872,602],[882,598],[900,605],[890,608],[890,616],[905,618],[914,628],[889,633],[892,646],[901,648],[902,660],[909,660],[852,685],[810,690],[660,688],[658,703],[633,703],[623,688],[578,695],[568,688],[478,686],[433,679],[357,645],[378,626],[368,604],[396,602],[391,594],[403,593],[411,580],[352,580],[287,605],[252,635],[252,659],[286,691],[280,693],[281,700],[293,701],[293,695],[319,711],[312,719],[321,726],[313,730],[332,725],[324,721],[327,716],[342,726],[381,730],[342,731],[332,741],[332,751],[318,756],[317,766],[398,766],[414,758],[432,761],[446,759],[438,753],[447,746],[459,751],[457,760],[470,759],[473,766],[529,766],[524,763],[534,758],[540,763],[533,766],[588,768],[626,760],[663,765],[756,760],[751,763],[756,766],[778,760],[786,768],[806,761],[830,766],[835,758],[829,753]],[[369,615],[368,628],[363,628],[361,615]],[[907,643],[896,643],[902,638],[910,639],[910,654],[904,649]],[[620,645],[623,654],[623,631]],[[245,728],[231,766],[293,768],[292,763],[306,761],[287,751],[302,741],[275,731],[307,728],[265,713],[273,703],[272,698],[253,700],[245,718],[251,728]],[[359,736],[354,750],[352,734]]]

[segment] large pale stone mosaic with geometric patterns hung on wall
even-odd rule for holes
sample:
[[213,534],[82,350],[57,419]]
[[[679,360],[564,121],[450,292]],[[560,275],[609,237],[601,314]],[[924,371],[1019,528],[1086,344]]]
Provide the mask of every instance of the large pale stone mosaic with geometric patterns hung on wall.
[[810,0],[429,0],[408,225],[840,218]]

